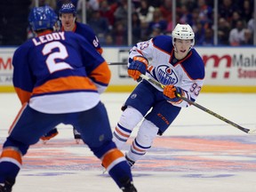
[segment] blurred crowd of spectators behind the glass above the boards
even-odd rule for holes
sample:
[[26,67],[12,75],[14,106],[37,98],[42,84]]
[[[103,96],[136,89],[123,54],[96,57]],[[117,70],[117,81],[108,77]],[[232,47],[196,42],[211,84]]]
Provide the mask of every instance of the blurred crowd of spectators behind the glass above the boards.
[[[63,3],[76,6],[77,21],[82,21],[85,0],[39,0],[57,13]],[[128,0],[86,0],[86,23],[101,45],[127,45]],[[0,1],[0,45],[20,45],[28,39],[28,12],[35,0]],[[195,31],[196,45],[213,45],[212,0],[176,1],[176,23],[188,23]],[[219,0],[218,45],[252,45],[253,0]],[[171,34],[172,0],[132,0],[132,44],[150,37]]]

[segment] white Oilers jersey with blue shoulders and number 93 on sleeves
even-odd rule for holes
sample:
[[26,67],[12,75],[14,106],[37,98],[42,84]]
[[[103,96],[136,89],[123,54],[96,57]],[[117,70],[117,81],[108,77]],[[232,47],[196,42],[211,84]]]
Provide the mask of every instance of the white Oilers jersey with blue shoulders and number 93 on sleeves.
[[[128,65],[134,56],[143,56],[148,59],[147,76],[164,85],[174,84],[185,91],[185,96],[189,100],[196,100],[204,83],[204,62],[195,49],[192,48],[183,60],[177,60],[174,57],[172,37],[156,36],[132,47]],[[162,91],[158,87],[156,89]],[[173,105],[188,107],[186,101]]]

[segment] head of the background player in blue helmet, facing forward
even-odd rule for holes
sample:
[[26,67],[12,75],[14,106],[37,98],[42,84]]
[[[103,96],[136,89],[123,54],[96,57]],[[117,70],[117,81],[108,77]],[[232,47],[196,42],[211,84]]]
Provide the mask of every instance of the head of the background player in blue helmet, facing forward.
[[76,7],[74,4],[62,4],[60,8],[60,21],[65,31],[72,31],[75,28]]

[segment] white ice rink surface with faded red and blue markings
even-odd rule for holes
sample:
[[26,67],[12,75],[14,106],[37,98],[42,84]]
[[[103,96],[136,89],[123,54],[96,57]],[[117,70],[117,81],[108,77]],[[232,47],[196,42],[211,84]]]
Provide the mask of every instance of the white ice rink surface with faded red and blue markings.
[[[113,129],[128,95],[101,95]],[[196,102],[236,124],[256,129],[256,94],[201,93]],[[14,93],[1,93],[0,108],[2,146],[20,101]],[[28,150],[13,192],[121,191],[108,173],[102,173],[100,161],[89,148],[76,144],[71,126],[60,124],[58,128],[56,138],[46,145],[38,142]],[[138,127],[132,137],[137,131]],[[184,108],[132,173],[139,192],[253,192],[256,136],[193,106]]]

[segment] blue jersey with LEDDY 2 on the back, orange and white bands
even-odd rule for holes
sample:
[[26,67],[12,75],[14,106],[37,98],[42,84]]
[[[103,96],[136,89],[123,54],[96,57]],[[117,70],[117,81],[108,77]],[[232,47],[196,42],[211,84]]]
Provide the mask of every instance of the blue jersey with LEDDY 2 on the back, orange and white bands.
[[21,103],[50,114],[93,108],[110,81],[107,62],[73,32],[28,40],[14,52],[12,65]]

